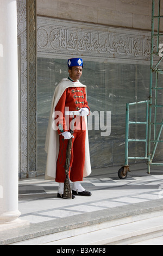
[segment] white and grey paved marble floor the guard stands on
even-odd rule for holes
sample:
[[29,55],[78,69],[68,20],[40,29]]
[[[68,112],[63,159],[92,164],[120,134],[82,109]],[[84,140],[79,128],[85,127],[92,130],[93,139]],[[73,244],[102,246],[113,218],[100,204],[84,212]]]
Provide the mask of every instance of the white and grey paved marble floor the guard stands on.
[[73,200],[57,198],[58,184],[43,176],[19,181],[21,220],[41,223],[60,220],[108,208],[150,202],[163,198],[163,168],[155,166],[147,174],[146,164],[134,164],[126,180],[120,180],[118,167],[94,169],[82,185],[91,197],[77,196]]

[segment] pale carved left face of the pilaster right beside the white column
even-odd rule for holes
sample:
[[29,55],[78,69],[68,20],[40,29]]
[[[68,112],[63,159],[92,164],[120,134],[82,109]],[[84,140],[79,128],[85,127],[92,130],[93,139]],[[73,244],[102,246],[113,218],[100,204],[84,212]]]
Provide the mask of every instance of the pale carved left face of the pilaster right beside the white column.
[[18,53],[20,54],[18,70],[20,72],[19,104],[19,178],[27,177],[28,166],[28,107],[27,107],[27,6],[26,0],[17,1],[17,37]]

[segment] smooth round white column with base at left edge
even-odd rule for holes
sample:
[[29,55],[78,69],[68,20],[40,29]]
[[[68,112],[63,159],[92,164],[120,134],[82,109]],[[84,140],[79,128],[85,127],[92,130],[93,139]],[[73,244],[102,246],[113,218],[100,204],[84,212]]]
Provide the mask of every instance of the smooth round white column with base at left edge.
[[0,0],[0,224],[19,216],[17,7]]

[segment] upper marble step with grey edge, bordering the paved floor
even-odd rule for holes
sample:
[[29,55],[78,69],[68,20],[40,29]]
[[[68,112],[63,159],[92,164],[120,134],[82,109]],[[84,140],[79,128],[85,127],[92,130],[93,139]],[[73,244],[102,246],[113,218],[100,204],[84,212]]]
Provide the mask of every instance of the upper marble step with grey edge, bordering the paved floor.
[[[41,245],[163,216],[162,199],[0,231],[0,245]],[[105,230],[106,231],[106,230]],[[147,230],[154,232],[156,230]],[[106,241],[108,242],[108,241]]]

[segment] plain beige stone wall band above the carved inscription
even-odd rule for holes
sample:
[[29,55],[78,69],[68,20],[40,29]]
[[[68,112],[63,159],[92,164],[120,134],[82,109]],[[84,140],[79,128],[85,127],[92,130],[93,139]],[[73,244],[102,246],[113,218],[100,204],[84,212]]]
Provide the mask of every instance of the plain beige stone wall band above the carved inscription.
[[37,0],[38,15],[149,31],[151,13],[152,0]]

